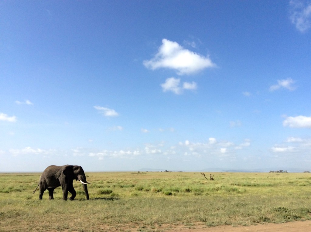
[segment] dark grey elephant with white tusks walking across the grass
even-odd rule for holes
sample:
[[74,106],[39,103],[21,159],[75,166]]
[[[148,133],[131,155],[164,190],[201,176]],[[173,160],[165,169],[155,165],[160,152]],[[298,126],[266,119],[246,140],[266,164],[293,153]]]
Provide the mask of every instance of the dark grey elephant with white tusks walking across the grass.
[[[76,197],[76,191],[73,188],[73,180],[79,180],[86,194],[86,199],[89,199],[89,193],[87,191],[87,185],[91,184],[86,181],[85,173],[81,166],[63,165],[48,166],[40,176],[39,184],[35,191],[40,189],[39,200],[42,200],[43,193],[46,189],[49,190],[49,199],[54,199],[53,191],[55,188],[62,186],[63,189],[63,200],[67,201],[68,191],[72,194],[69,200],[74,200]],[[35,193],[35,191],[33,193]]]

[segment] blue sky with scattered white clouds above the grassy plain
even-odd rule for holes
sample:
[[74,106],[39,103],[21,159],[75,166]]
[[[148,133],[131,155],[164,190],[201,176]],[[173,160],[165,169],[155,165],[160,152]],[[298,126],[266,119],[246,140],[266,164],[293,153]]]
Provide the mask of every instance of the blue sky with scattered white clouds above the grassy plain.
[[310,1],[1,1],[0,171],[311,170]]

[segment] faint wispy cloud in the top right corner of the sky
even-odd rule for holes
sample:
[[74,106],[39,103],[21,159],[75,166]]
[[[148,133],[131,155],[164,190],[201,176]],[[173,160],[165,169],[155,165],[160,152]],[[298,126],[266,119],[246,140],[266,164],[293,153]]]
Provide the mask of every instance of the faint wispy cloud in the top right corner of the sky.
[[296,28],[304,33],[311,28],[311,2],[291,0],[290,20]]

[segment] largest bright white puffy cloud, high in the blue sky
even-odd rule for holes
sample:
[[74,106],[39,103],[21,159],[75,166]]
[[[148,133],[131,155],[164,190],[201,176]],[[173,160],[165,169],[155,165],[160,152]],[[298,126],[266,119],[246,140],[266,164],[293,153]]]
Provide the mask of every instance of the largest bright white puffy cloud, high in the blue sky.
[[174,69],[178,75],[192,74],[216,66],[209,57],[189,51],[168,39],[162,39],[162,45],[155,57],[143,61],[143,64],[152,70],[158,68]]

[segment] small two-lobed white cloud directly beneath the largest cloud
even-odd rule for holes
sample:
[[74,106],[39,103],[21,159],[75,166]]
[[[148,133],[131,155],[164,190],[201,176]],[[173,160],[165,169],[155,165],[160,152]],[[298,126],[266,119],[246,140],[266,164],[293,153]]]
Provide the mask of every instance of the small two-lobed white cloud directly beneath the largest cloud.
[[175,94],[182,94],[183,90],[195,90],[197,89],[197,83],[183,82],[183,86],[180,84],[179,78],[170,77],[165,80],[165,83],[161,84],[163,92],[171,91]]

